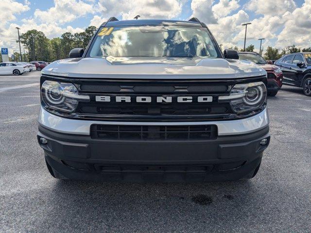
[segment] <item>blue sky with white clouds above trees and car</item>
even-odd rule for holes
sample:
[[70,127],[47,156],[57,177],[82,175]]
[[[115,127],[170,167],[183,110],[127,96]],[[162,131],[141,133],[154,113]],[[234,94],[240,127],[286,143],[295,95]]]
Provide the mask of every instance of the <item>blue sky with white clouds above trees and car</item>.
[[21,33],[36,29],[48,38],[64,32],[81,32],[105,19],[197,17],[205,22],[223,48],[246,46],[278,48],[295,44],[311,47],[311,0],[0,0],[0,47],[17,50]]

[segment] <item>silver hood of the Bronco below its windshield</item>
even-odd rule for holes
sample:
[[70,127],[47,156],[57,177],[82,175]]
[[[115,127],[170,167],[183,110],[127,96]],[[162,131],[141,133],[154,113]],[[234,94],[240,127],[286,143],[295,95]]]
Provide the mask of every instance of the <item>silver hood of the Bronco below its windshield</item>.
[[266,75],[266,71],[252,62],[221,58],[107,57],[59,60],[45,67],[42,74],[72,78],[235,79]]

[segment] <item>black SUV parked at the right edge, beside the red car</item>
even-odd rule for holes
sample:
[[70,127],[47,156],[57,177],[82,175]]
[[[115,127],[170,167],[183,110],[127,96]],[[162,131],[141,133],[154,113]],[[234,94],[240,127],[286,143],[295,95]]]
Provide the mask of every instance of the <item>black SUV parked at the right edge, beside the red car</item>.
[[303,88],[311,96],[311,52],[298,52],[283,56],[275,63],[283,74],[283,83]]

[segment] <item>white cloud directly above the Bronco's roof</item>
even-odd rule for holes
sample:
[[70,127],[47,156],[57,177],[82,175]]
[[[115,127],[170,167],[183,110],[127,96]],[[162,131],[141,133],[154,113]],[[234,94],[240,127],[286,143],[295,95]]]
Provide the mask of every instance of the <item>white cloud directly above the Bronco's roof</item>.
[[98,10],[105,18],[121,16],[133,19],[140,15],[143,19],[173,18],[181,13],[180,0],[99,0]]

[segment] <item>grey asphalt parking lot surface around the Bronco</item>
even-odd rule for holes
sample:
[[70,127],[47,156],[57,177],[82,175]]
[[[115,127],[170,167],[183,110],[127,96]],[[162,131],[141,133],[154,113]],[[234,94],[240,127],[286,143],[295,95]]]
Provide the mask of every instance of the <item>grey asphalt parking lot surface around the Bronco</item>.
[[268,99],[271,143],[250,181],[80,182],[46,168],[39,75],[0,76],[1,233],[311,232],[311,98],[299,88]]

